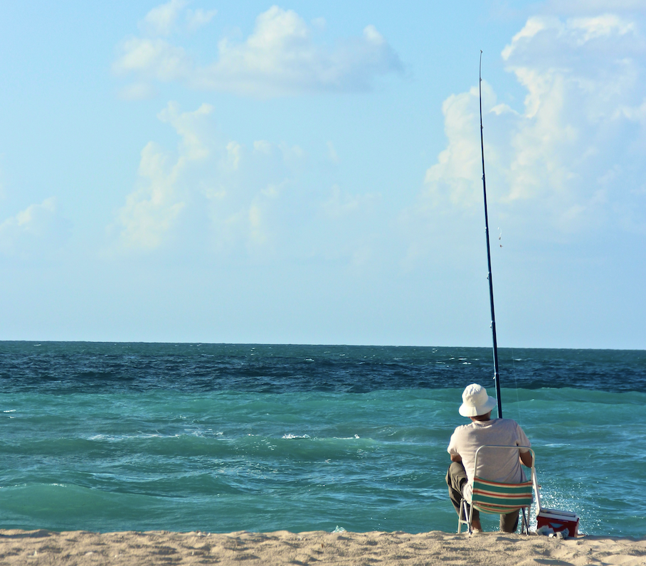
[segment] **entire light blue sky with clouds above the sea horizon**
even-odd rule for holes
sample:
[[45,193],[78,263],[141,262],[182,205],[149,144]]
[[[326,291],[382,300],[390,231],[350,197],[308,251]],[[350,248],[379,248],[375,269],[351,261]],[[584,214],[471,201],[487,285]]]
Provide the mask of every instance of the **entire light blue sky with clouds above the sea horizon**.
[[646,2],[0,6],[0,340],[646,349]]

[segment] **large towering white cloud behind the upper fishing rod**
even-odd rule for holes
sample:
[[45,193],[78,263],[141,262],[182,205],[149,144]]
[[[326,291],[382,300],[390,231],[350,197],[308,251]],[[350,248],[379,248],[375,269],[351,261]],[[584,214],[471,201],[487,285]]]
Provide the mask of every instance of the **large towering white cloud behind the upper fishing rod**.
[[[616,14],[532,17],[502,50],[526,90],[517,111],[483,82],[487,186],[507,215],[528,211],[561,233],[616,220],[643,230],[644,37]],[[448,144],[426,173],[426,198],[468,208],[482,198],[477,89],[443,107]],[[603,179],[604,181],[601,181]],[[612,180],[612,182],[610,182]],[[489,191],[488,191],[489,192]]]

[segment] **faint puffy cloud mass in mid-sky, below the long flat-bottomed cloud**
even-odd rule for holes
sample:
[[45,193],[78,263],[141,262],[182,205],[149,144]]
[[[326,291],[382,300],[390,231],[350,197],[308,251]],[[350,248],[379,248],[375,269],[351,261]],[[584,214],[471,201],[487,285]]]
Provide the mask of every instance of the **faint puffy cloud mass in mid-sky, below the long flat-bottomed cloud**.
[[180,141],[176,151],[154,142],[142,150],[137,187],[111,227],[123,250],[151,252],[181,238],[216,252],[272,245],[272,202],[289,183],[285,160],[265,140],[248,150],[223,139],[212,112],[171,102],[159,113]]

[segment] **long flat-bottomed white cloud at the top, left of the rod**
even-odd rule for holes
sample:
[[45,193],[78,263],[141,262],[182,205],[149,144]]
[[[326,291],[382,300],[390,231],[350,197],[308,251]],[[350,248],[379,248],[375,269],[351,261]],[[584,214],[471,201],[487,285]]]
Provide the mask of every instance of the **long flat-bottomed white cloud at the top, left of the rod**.
[[[315,41],[312,27],[293,10],[278,6],[260,14],[253,33],[243,42],[223,38],[218,58],[198,65],[169,36],[185,10],[173,0],[146,16],[148,36],[128,38],[120,45],[113,70],[135,75],[138,80],[177,81],[192,88],[234,92],[253,97],[275,97],[306,92],[369,90],[374,78],[402,73],[397,53],[374,26],[366,26],[360,37],[334,47]],[[206,25],[213,14],[187,13],[195,27]],[[318,21],[314,28],[322,24]]]

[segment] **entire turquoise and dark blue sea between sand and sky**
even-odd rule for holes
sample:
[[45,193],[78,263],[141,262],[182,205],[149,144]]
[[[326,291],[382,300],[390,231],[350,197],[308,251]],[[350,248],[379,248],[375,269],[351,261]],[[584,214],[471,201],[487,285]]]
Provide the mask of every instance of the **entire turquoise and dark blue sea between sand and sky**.
[[[646,352],[499,361],[544,503],[646,535]],[[490,348],[0,342],[0,528],[451,532],[474,382]]]

